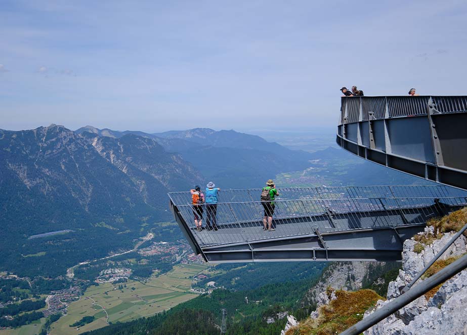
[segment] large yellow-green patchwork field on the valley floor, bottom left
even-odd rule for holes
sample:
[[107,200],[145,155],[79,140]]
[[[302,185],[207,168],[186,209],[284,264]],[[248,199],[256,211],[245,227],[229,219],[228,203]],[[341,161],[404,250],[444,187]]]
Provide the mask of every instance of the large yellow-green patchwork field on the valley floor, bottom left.
[[[90,298],[96,301],[96,305],[105,308],[109,322],[129,321],[170,309],[197,296],[190,291],[191,279],[207,268],[201,264],[177,265],[172,271],[153,276],[144,283],[129,280],[121,290],[117,289],[120,284],[91,286],[78,301],[68,306],[67,315],[52,324],[51,334],[78,334],[106,326],[106,313],[101,307],[93,306]],[[69,326],[87,315],[97,319],[79,330]]]

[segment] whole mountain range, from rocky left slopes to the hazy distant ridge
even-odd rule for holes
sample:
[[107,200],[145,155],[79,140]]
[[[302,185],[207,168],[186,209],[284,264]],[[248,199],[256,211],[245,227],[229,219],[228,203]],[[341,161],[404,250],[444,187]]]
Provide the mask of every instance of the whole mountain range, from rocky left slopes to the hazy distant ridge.
[[209,180],[261,187],[279,172],[306,168],[309,157],[233,130],[0,130],[0,270],[64,274],[131,249],[157,222],[172,220],[167,192]]

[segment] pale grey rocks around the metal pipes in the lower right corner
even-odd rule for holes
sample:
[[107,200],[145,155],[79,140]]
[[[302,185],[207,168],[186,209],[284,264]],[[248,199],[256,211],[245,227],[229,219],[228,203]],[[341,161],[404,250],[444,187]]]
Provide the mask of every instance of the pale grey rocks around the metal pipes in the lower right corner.
[[[433,227],[424,233],[434,235]],[[454,233],[445,233],[422,250],[413,239],[406,240],[403,251],[403,266],[397,279],[389,284],[388,300],[380,300],[376,309],[399,296],[400,290],[426,266],[435,254],[452,238]],[[440,257],[441,262],[450,260],[467,252],[466,239],[460,236]],[[418,253],[414,251],[419,251]],[[415,284],[416,285],[416,284]],[[415,334],[467,334],[467,270],[447,280],[436,292],[432,290],[405,306],[395,314],[365,331],[365,335],[415,335]],[[373,309],[374,310],[374,309]],[[367,311],[369,315],[373,310]]]

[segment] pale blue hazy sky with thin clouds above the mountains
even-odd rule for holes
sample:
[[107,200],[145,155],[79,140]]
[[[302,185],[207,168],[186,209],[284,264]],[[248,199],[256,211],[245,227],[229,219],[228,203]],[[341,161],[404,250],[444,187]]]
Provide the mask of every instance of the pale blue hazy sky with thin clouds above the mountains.
[[465,1],[0,2],[0,129],[335,127],[342,86],[467,95]]

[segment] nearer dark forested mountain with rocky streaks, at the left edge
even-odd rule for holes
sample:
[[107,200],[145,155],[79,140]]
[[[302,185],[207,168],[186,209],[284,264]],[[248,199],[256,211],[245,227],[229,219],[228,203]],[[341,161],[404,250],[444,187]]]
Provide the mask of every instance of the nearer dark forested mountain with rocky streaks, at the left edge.
[[[171,219],[167,192],[196,182],[197,170],[150,138],[0,130],[0,269],[55,276],[133,247],[142,225]],[[28,239],[61,230],[73,232]]]

